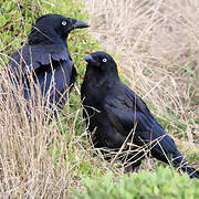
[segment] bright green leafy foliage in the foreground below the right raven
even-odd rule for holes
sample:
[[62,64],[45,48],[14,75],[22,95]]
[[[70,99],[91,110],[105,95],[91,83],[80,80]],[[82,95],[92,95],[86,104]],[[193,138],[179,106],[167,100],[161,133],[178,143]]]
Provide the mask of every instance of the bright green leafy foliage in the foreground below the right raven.
[[73,190],[80,199],[187,199],[199,198],[199,181],[188,175],[180,176],[170,168],[158,167],[155,174],[114,177],[112,172],[98,178],[84,178],[85,191]]

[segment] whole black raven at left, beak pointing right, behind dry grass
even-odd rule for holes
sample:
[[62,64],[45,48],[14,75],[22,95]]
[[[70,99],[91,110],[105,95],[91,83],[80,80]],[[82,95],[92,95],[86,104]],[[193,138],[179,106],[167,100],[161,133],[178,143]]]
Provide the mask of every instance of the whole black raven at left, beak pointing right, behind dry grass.
[[[40,17],[28,35],[28,44],[15,51],[9,61],[9,73],[15,87],[22,85],[29,102],[41,87],[44,105],[61,109],[76,80],[76,70],[67,49],[67,35],[74,29],[87,28],[85,22],[60,14]],[[46,97],[48,94],[48,97]],[[38,96],[38,95],[36,95]]]

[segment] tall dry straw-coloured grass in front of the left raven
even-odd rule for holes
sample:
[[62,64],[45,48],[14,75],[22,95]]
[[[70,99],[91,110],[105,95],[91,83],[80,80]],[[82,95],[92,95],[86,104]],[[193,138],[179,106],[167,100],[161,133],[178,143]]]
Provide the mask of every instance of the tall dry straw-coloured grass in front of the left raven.
[[[61,136],[61,125],[55,121],[49,125],[42,102],[38,103],[38,107],[32,104],[31,108],[34,109],[30,109],[27,115],[27,102],[20,94],[21,87],[17,91],[12,86],[6,70],[1,70],[2,83],[7,90],[1,91],[0,97],[1,197],[66,196],[71,184],[67,178],[71,166],[61,158],[69,148]],[[71,135],[73,137],[72,132]],[[51,154],[56,153],[57,146],[60,156],[55,161]]]

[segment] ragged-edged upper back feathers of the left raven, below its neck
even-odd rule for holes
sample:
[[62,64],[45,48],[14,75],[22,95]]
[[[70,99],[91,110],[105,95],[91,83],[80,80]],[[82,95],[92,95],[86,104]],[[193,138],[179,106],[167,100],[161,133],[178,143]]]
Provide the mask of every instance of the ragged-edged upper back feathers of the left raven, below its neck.
[[65,61],[67,65],[73,65],[71,55],[64,44],[38,44],[24,45],[15,51],[9,61],[11,72],[15,76],[25,75],[29,71],[44,70],[41,67],[49,66],[53,61]]

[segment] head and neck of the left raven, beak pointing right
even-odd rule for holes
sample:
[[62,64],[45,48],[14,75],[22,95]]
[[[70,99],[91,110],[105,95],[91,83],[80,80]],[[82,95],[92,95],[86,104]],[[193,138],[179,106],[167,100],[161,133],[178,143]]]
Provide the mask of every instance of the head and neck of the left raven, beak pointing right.
[[60,14],[45,14],[38,18],[29,34],[29,44],[54,43],[65,41],[74,29],[87,28],[88,24]]

